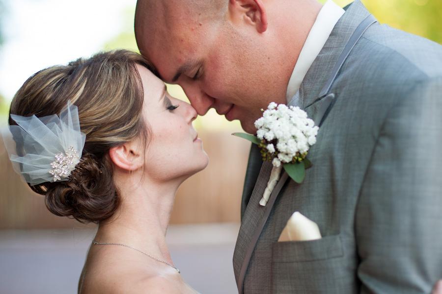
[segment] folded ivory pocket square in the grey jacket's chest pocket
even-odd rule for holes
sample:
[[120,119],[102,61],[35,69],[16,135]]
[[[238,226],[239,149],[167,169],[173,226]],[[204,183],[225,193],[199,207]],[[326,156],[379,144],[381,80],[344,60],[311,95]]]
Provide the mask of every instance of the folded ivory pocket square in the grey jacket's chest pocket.
[[299,211],[295,211],[279,235],[278,242],[317,239],[321,239],[321,232],[316,222],[307,219]]

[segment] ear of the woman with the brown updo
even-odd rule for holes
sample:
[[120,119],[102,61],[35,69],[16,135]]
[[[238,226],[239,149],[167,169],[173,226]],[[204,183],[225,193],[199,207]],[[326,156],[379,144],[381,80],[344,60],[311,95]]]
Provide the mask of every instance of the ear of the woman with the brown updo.
[[113,164],[126,171],[136,171],[141,168],[143,156],[140,154],[140,148],[137,148],[137,145],[136,142],[130,142],[112,147],[109,150],[109,156]]

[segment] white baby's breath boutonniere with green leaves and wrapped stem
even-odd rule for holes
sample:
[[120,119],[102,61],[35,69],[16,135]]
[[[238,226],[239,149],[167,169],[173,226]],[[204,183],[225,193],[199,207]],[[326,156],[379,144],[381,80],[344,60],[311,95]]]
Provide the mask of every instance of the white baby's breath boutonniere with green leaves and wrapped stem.
[[306,158],[307,151],[316,143],[319,127],[299,107],[277,105],[275,102],[270,103],[263,116],[256,120],[255,127],[256,136],[245,133],[233,135],[257,144],[261,148],[262,159],[273,164],[269,183],[260,202],[265,206],[282,168],[295,182],[301,183],[304,180],[305,169],[312,165]]

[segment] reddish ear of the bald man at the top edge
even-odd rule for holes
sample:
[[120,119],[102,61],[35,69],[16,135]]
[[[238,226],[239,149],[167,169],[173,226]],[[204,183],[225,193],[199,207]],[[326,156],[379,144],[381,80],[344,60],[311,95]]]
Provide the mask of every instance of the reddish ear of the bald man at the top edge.
[[233,24],[245,22],[259,33],[267,30],[267,11],[262,0],[229,0],[229,19]]

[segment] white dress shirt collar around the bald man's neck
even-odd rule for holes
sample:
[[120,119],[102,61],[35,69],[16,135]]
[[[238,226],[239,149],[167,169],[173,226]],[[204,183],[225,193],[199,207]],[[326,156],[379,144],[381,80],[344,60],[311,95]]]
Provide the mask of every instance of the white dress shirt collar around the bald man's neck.
[[324,47],[334,25],[336,25],[344,12],[345,10],[332,0],[328,0],[321,8],[321,11],[319,11],[316,21],[305,40],[303,49],[299,54],[293,73],[290,76],[286,92],[287,104],[296,92],[298,92],[305,74]]

